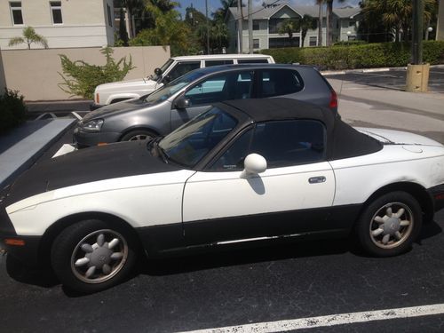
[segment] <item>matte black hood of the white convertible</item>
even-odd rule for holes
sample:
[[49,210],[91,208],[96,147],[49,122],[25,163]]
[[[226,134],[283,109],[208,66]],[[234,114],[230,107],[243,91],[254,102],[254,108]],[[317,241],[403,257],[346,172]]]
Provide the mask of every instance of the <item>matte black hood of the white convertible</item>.
[[147,141],[85,148],[34,165],[15,181],[2,205],[66,186],[181,169],[151,155]]

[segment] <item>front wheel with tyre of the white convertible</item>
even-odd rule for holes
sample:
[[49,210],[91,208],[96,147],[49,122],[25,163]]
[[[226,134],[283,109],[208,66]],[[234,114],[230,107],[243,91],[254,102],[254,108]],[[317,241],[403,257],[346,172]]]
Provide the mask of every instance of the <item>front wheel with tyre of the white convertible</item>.
[[52,243],[52,269],[63,285],[77,292],[108,289],[131,273],[135,244],[123,228],[83,220],[68,226]]

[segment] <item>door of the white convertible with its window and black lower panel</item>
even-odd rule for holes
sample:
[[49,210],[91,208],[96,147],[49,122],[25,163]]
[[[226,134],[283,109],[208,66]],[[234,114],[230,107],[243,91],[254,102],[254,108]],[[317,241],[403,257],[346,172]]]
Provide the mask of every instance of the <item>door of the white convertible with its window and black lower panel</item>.
[[[303,132],[298,131],[301,126]],[[324,135],[321,123],[305,120],[263,123],[245,132],[209,170],[187,180],[186,243],[235,242],[328,228],[335,178],[324,161]],[[266,157],[268,169],[244,178],[237,160],[250,153]]]

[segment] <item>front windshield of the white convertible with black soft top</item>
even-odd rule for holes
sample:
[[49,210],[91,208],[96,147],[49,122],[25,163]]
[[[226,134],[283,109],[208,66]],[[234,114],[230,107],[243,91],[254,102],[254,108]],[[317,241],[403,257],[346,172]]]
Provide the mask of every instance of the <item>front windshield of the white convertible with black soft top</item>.
[[171,132],[158,146],[167,160],[192,168],[236,125],[232,115],[213,107]]

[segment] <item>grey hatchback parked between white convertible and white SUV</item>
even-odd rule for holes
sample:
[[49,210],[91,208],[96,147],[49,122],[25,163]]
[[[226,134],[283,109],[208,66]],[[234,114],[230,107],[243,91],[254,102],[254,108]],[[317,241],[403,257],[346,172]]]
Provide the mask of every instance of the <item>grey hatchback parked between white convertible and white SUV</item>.
[[337,113],[337,94],[313,67],[227,65],[196,69],[139,99],[100,107],[77,123],[77,147],[166,135],[216,102],[285,96]]

